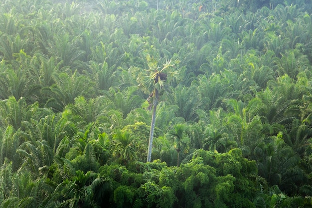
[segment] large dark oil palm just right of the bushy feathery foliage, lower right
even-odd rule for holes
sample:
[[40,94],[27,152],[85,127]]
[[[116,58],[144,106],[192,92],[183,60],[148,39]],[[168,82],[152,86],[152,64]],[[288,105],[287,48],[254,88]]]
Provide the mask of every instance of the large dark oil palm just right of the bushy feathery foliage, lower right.
[[299,155],[284,142],[282,133],[259,143],[253,157],[258,163],[259,175],[269,184],[278,185],[286,193],[298,193],[306,180]]

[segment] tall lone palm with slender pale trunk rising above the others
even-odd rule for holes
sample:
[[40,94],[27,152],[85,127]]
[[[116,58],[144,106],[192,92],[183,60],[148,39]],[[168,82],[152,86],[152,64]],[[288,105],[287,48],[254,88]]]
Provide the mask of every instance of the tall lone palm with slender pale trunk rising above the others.
[[176,70],[176,65],[179,63],[178,59],[166,60],[162,67],[158,66],[158,60],[155,57],[147,56],[148,69],[141,69],[138,67],[131,67],[130,70],[134,77],[137,77],[139,88],[144,93],[150,93],[148,110],[152,110],[151,132],[149,139],[148,159],[151,162],[153,137],[156,118],[156,107],[160,96],[163,94],[165,82],[170,83],[179,77],[179,70]]

